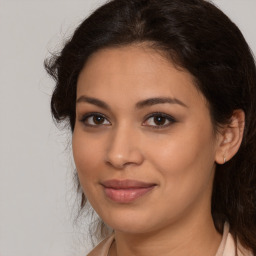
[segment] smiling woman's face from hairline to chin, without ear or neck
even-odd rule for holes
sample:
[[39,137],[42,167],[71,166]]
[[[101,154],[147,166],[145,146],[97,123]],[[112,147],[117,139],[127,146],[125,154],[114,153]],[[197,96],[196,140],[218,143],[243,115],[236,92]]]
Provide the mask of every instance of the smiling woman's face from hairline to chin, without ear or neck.
[[100,50],[80,73],[74,160],[86,197],[115,230],[210,215],[217,140],[192,76],[150,48]]

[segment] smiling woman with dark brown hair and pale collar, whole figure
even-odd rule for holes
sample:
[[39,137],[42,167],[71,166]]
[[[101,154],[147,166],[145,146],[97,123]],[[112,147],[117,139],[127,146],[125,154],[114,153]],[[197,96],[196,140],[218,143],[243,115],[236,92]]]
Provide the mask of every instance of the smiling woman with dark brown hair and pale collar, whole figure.
[[82,202],[113,229],[89,255],[256,253],[256,71],[203,0],[112,0],[46,62]]

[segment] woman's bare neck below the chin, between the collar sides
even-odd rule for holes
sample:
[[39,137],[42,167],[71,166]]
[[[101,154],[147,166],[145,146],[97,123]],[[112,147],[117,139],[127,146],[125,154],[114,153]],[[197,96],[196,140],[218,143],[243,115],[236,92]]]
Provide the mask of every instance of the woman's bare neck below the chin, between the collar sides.
[[[191,219],[190,219],[191,220]],[[127,234],[115,232],[111,256],[214,256],[221,242],[211,215],[203,221],[183,221],[157,232]]]

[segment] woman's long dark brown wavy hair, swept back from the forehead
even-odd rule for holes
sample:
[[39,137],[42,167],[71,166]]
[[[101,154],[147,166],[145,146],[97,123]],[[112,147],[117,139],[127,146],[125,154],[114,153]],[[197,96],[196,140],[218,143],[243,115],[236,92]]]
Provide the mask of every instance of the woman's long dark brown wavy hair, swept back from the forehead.
[[[57,121],[75,125],[78,75],[88,57],[106,47],[149,42],[188,70],[208,100],[215,128],[234,110],[246,115],[238,153],[217,165],[212,216],[222,232],[230,223],[235,238],[256,253],[256,70],[237,26],[204,0],[112,0],[76,29],[63,50],[45,62],[56,80],[51,101]],[[107,68],[107,67],[106,67]],[[82,207],[86,198],[82,195]]]

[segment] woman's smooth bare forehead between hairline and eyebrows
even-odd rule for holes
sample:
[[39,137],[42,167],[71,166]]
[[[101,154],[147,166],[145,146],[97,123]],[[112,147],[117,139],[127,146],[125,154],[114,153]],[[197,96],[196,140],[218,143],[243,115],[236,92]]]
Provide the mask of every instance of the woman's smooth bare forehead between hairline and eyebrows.
[[177,69],[162,53],[141,45],[94,53],[79,75],[77,95],[82,94],[103,99],[120,94],[134,100],[168,95],[187,102],[204,98],[188,71]]

